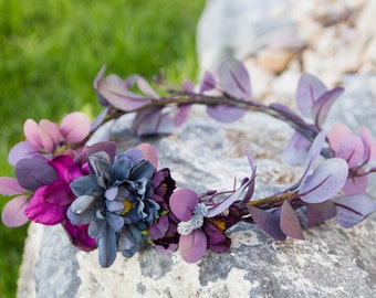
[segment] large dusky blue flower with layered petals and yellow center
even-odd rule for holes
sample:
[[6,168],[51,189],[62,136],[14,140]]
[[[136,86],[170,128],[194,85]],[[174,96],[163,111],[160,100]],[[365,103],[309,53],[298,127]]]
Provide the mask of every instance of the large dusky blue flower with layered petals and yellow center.
[[108,142],[105,147],[88,151],[90,175],[71,183],[79,198],[67,216],[73,224],[90,224],[88,234],[98,246],[100,264],[109,267],[116,252],[132,257],[139,251],[159,205],[152,200],[154,167],[143,152],[132,148],[114,157],[115,150],[108,148]]

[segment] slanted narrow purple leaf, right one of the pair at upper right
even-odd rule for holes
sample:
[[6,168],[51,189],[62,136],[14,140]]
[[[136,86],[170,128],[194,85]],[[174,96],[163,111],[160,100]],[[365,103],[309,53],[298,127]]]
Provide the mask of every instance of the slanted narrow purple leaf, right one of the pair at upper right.
[[343,92],[344,88],[335,87],[325,92],[315,103],[313,103],[311,113],[316,126],[320,127],[324,123],[334,100],[337,99]]

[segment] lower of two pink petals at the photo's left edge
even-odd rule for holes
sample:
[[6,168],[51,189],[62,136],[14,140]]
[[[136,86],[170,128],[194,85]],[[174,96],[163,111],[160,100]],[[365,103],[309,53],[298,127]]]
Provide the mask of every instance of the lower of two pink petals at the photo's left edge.
[[24,214],[29,201],[28,195],[20,195],[10,200],[2,210],[1,221],[3,224],[9,227],[15,227],[29,222],[28,216]]

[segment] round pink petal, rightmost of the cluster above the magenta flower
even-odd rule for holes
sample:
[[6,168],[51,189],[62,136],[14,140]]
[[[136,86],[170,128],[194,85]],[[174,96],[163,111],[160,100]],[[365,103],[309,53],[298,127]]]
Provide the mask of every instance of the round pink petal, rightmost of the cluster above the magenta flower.
[[82,141],[90,132],[90,119],[86,114],[74,111],[67,114],[61,125],[60,131],[67,143]]

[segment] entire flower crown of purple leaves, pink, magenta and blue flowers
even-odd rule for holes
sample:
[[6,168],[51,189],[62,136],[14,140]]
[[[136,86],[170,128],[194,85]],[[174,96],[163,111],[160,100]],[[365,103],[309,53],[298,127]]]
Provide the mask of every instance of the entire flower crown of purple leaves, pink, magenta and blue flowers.
[[[0,193],[12,198],[2,211],[7,226],[28,221],[62,224],[71,243],[82,251],[98,248],[100,264],[109,267],[121,252],[126,258],[149,244],[159,253],[179,249],[188,263],[210,249],[230,248],[226,231],[239,222],[258,225],[271,237],[303,240],[303,227],[331,217],[344,227],[376,211],[366,193],[368,174],[376,172],[376,142],[369,130],[354,136],[337,124],[326,135],[322,125],[342,87],[327,89],[316,77],[303,74],[296,89],[301,115],[281,104],[264,105],[252,98],[244,65],[233,58],[216,73],[206,72],[199,86],[179,86],[156,78],[158,93],[140,76],[122,79],[104,76],[94,88],[103,111],[92,123],[83,113],[66,115],[60,125],[28,119],[25,140],[17,143],[8,160],[15,178],[0,178]],[[295,129],[283,152],[288,162],[303,164],[302,177],[279,193],[253,198],[255,161],[246,152],[250,171],[227,191],[197,193],[178,189],[170,169],[158,169],[154,147],[142,143],[117,153],[107,141],[104,124],[134,113],[135,135],[171,134],[184,124],[192,105],[205,105],[209,116],[232,123],[247,111],[261,111]],[[102,141],[87,141],[101,128]],[[306,224],[296,211],[303,209]]]

